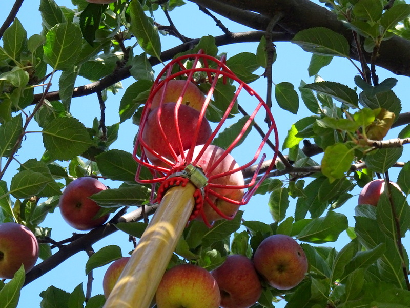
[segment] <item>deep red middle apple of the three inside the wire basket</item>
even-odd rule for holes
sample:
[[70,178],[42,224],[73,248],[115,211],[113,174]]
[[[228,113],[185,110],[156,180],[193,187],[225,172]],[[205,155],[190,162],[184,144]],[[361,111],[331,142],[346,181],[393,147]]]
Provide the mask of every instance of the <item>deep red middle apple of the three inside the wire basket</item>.
[[[170,161],[174,161],[172,153],[168,144],[175,151],[178,156],[180,153],[178,146],[178,132],[176,124],[179,127],[179,136],[182,141],[183,150],[189,149],[194,141],[194,131],[197,130],[197,123],[199,119],[199,111],[186,105],[180,105],[178,109],[178,118],[175,121],[174,112],[176,103],[168,103],[162,107],[158,107],[151,111],[148,115],[144,130],[142,131],[142,140],[147,143],[147,146],[156,151],[159,156],[163,156]],[[157,115],[160,112],[159,121]],[[160,126],[166,133],[166,139],[162,138],[160,133]],[[202,119],[199,127],[198,138],[195,145],[204,144],[211,136],[212,130],[206,118]],[[146,151],[148,159],[153,165],[163,166],[160,159]]]

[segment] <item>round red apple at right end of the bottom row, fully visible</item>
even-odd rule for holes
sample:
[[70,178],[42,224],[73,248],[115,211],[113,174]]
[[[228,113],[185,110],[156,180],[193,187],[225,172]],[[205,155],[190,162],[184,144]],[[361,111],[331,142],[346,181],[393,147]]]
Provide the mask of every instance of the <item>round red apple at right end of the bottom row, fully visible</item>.
[[308,260],[302,247],[283,234],[265,238],[256,249],[253,262],[256,271],[278,290],[295,287],[308,271]]

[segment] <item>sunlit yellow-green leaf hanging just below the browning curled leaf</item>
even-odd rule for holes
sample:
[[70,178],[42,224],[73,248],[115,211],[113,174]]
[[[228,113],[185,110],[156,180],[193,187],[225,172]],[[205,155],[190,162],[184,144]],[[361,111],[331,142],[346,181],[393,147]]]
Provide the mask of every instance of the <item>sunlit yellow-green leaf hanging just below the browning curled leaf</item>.
[[344,177],[354,159],[354,151],[343,143],[336,143],[326,147],[322,158],[322,173],[332,183]]

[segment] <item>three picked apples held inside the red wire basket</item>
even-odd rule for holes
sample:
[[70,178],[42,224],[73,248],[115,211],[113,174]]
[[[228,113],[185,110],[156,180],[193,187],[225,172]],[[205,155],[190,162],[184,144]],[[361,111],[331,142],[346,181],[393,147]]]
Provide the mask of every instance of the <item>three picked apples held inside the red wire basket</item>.
[[[181,98],[185,86],[187,89]],[[176,117],[178,100],[181,104]],[[209,197],[197,219],[212,224],[235,216],[244,194],[240,187],[245,182],[241,171],[232,171],[239,165],[224,149],[209,145],[203,150],[212,134],[208,120],[200,116],[204,102],[204,94],[194,83],[187,85],[186,80],[169,80],[152,98],[141,139],[147,148],[147,158],[160,167],[184,164],[188,151],[195,145],[192,157],[198,161],[196,167],[210,179]],[[166,136],[161,134],[161,128]]]

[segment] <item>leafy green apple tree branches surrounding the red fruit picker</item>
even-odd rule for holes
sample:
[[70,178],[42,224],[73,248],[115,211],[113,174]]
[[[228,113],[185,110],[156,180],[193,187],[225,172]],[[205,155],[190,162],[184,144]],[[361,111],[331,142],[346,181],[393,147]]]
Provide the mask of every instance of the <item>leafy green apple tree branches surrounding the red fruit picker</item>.
[[[92,273],[122,255],[115,242],[98,251],[93,245],[109,242],[115,232],[129,235],[137,244],[158,207],[151,203],[152,186],[135,182],[138,165],[132,157],[155,73],[163,63],[199,50],[220,59],[223,46],[232,44],[239,47],[227,56],[232,71],[251,85],[262,85],[268,106],[280,109],[282,117],[296,119],[279,127],[283,138],[275,170],[256,190],[264,202],[253,210],[269,209],[272,217],[270,223],[249,221],[239,210],[232,220],[219,220],[211,228],[193,221],[169,267],[192,263],[211,271],[228,255],[252,259],[265,238],[283,234],[301,244],[308,271],[289,290],[262,282],[262,294],[253,307],[410,306],[410,244],[405,238],[410,228],[410,113],[401,102],[407,98],[400,100],[394,91],[397,75],[410,76],[409,4],[189,0],[199,8],[192,14],[206,15],[223,33],[215,36],[215,29],[197,25],[198,33],[209,33],[190,38],[172,18],[187,5],[182,0],[71,2],[63,6],[58,0],[16,0],[1,21],[0,223],[30,228],[40,252],[30,272],[21,268],[13,279],[0,281],[0,307],[16,307],[25,285],[84,251],[89,259],[78,266],[85,267],[90,278],[86,290],[79,285],[63,291],[50,281],[40,294],[41,306],[104,305],[105,297],[92,292]],[[40,11],[40,33],[27,34],[18,18],[22,5]],[[166,16],[167,24],[158,22],[159,15]],[[222,17],[251,30],[231,32]],[[254,43],[253,52],[240,52],[247,42]],[[311,54],[312,82],[280,80],[274,70],[280,54],[275,42],[296,44]],[[355,67],[349,80],[335,81],[336,71],[334,80],[320,77],[320,70],[331,67],[334,58]],[[381,70],[389,75],[380,78]],[[86,82],[78,85],[78,80]],[[126,82],[129,86],[122,89]],[[206,83],[198,80],[202,90]],[[234,91],[227,88],[220,97],[232,97]],[[94,94],[100,114],[86,115],[92,123],[86,127],[72,106],[89,94]],[[107,123],[105,104],[113,95],[118,98],[118,122]],[[215,99],[214,122],[220,120],[224,106]],[[127,134],[128,151],[116,147],[118,132],[127,124],[134,127]],[[224,132],[219,144],[230,144],[240,125],[238,121],[232,131]],[[42,144],[35,145],[41,148],[39,156],[27,146],[26,138],[34,132],[42,135]],[[29,159],[20,161],[22,153]],[[252,177],[251,169],[243,171],[245,179]],[[91,197],[101,206],[98,215],[110,213],[110,220],[89,232],[67,232],[67,239],[57,242],[47,217],[59,215],[56,207],[65,187],[84,176],[110,187]],[[380,195],[376,206],[370,201],[357,205],[354,195],[374,179],[397,185],[374,192]],[[342,213],[346,207],[354,208],[352,217]],[[341,234],[348,235],[343,244]]]

